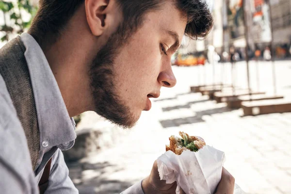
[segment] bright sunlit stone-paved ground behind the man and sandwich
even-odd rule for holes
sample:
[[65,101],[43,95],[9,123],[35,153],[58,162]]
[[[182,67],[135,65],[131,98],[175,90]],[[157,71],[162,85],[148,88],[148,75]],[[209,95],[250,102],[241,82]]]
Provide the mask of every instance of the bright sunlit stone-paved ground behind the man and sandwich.
[[[260,87],[271,92],[268,67],[269,63],[260,64],[260,69],[264,69]],[[190,85],[198,82],[197,73],[203,71],[176,66],[173,70],[177,86],[162,89],[161,99],[153,102],[149,112],[142,113],[134,129],[120,129],[114,133],[116,142],[111,141],[111,146],[68,164],[80,194],[120,193],[145,178],[152,163],[164,153],[168,137],[179,130],[201,136],[208,145],[224,151],[226,169],[246,193],[291,194],[291,113],[241,117],[241,110],[230,110],[225,103],[217,104],[206,96],[189,93]],[[277,62],[276,70],[278,91],[288,99],[291,62]],[[237,71],[237,83],[243,87],[243,63]],[[225,72],[230,72],[229,66]],[[252,73],[252,85],[256,87],[254,76]],[[210,78],[208,75],[209,82]]]

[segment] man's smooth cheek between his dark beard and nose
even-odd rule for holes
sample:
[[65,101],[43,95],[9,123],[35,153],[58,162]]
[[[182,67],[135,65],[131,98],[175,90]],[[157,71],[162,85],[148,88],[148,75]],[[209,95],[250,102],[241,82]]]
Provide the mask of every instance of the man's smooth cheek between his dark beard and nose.
[[114,61],[114,82],[119,95],[126,97],[132,107],[144,106],[146,95],[157,88],[161,65],[157,38],[137,34]]

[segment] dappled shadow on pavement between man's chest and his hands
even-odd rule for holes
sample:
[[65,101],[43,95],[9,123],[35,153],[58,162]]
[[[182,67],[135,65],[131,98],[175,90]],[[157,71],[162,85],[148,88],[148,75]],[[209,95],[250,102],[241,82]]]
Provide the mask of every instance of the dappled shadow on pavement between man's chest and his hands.
[[107,179],[109,174],[123,170],[109,162],[70,162],[67,166],[69,177],[80,194],[120,194],[134,184],[125,180]]

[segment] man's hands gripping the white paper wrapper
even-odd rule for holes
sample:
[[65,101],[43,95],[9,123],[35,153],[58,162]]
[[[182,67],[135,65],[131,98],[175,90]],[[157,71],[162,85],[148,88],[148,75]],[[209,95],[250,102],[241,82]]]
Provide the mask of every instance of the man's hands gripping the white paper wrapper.
[[[177,183],[166,184],[165,180],[161,180],[158,172],[158,163],[155,161],[149,177],[143,180],[142,187],[145,194],[176,194]],[[221,181],[215,194],[233,194],[233,190],[234,178],[225,168],[222,168]],[[185,193],[181,191],[181,194]]]

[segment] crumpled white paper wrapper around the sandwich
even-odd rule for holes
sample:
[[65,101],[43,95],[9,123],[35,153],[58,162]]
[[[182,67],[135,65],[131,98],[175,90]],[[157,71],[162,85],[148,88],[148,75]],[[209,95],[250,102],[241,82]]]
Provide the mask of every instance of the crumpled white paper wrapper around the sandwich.
[[204,146],[198,152],[186,150],[181,155],[167,151],[157,162],[161,180],[169,184],[177,181],[176,194],[180,188],[186,194],[214,194],[224,160],[224,152]]

